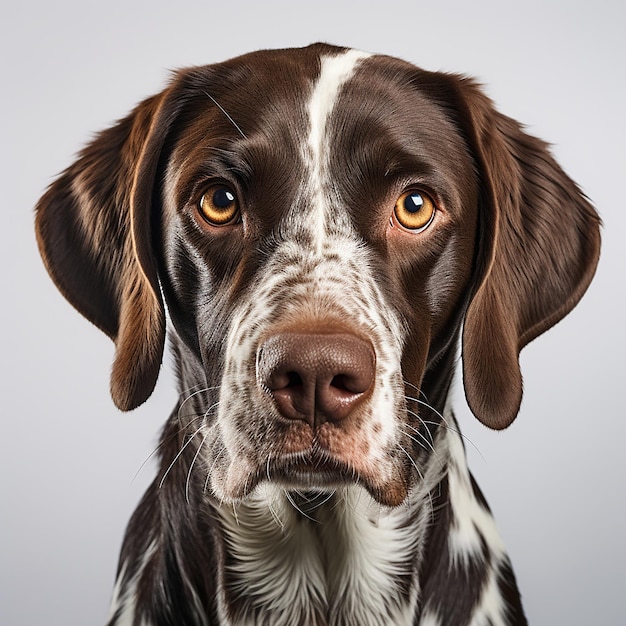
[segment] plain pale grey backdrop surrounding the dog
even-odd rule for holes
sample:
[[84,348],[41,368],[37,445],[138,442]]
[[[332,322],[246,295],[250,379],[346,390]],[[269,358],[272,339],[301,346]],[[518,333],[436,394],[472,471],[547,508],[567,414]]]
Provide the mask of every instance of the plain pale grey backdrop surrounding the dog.
[[124,527],[154,471],[141,466],[175,398],[166,366],[144,407],[113,407],[112,345],[45,274],[32,207],[92,134],[159,91],[169,69],[316,40],[477,76],[502,111],[553,143],[599,208],[595,282],[524,351],[518,420],[488,432],[461,394],[458,404],[530,622],[625,624],[626,5],[220,4],[2,5],[0,624],[105,621]]

